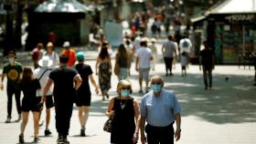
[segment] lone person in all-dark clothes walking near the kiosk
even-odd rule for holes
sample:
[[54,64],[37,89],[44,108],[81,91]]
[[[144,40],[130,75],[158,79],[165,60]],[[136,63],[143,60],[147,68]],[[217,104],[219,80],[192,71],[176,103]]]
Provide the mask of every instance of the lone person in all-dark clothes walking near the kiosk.
[[212,70],[214,69],[215,54],[214,51],[208,47],[207,41],[204,41],[204,49],[200,51],[199,69],[203,67],[203,77],[205,89],[212,87]]

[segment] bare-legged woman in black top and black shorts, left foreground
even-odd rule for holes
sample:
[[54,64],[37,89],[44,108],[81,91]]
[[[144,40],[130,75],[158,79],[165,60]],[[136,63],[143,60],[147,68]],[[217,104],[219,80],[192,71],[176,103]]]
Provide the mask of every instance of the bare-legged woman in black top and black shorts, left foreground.
[[37,98],[37,90],[40,89],[39,80],[33,76],[32,69],[30,67],[24,67],[22,79],[20,82],[20,89],[23,91],[22,98],[22,122],[20,126],[20,135],[19,143],[24,143],[24,131],[27,126],[29,111],[33,113],[34,119],[34,142],[39,141],[38,129],[39,129],[39,113],[41,110],[40,101],[41,99]]

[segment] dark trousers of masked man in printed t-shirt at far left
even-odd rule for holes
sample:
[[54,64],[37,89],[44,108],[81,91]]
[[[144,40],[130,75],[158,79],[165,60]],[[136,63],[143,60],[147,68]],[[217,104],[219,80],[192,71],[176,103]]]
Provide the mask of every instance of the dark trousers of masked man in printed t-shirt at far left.
[[15,95],[16,98],[16,110],[17,113],[21,113],[20,108],[20,89],[16,87],[10,87],[7,86],[7,117],[12,117],[12,108],[13,108],[13,95]]

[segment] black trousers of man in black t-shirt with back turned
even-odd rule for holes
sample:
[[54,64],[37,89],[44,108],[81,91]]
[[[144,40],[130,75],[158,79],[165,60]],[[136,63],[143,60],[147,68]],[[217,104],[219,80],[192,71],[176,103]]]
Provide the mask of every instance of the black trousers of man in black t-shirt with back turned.
[[66,138],[69,135],[69,125],[70,118],[72,116],[73,101],[61,101],[56,102],[55,105],[55,119],[56,119],[56,129],[59,136]]

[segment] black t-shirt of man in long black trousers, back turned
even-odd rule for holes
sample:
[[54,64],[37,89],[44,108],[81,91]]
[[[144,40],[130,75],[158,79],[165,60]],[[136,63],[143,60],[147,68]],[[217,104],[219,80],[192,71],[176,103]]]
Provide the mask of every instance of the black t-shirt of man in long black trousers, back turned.
[[49,74],[54,82],[53,95],[55,98],[69,98],[74,95],[74,78],[79,73],[72,67],[58,67]]

